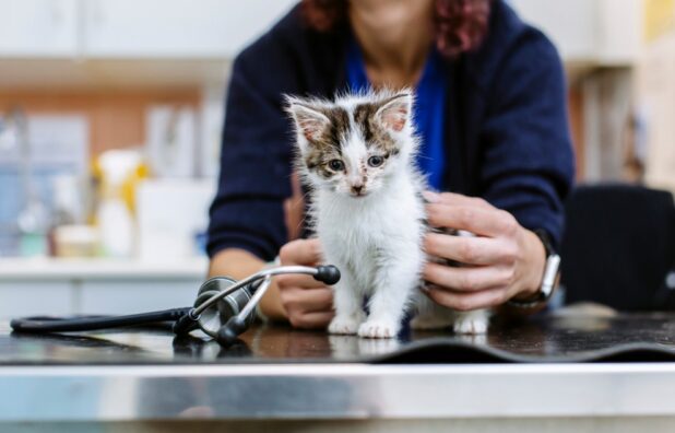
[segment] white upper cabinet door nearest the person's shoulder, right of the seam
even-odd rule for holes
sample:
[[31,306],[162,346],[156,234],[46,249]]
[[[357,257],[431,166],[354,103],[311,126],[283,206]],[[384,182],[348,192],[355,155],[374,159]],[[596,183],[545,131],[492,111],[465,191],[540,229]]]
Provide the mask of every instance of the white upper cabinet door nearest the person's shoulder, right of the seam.
[[83,55],[229,58],[294,3],[293,0],[90,0],[83,2]]

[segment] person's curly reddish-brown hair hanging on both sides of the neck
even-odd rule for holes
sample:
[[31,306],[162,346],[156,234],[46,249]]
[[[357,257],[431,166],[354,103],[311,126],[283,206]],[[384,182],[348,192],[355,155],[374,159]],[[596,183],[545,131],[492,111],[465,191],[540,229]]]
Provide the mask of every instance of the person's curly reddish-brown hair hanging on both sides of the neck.
[[[448,57],[476,48],[485,34],[492,0],[436,0],[436,46]],[[318,32],[329,32],[346,21],[347,0],[303,0],[305,22]]]

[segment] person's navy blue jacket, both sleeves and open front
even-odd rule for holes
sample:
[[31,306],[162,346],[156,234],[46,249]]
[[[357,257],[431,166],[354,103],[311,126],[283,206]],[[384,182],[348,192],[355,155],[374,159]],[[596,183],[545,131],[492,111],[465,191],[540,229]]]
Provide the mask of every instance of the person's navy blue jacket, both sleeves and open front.
[[[348,32],[315,32],[295,8],[236,58],[211,256],[234,247],[270,260],[287,242],[293,134],[282,95],[347,89]],[[488,32],[477,50],[448,60],[443,189],[483,197],[557,244],[573,178],[560,59],[502,0],[493,2]]]

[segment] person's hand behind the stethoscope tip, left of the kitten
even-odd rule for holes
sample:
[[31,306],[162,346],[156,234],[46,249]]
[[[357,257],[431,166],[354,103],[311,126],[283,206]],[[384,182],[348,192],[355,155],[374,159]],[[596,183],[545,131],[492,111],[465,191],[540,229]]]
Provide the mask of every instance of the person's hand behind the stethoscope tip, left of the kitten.
[[[279,257],[282,266],[317,266],[321,262],[318,239],[296,239],[284,245]],[[285,274],[275,278],[288,321],[297,328],[325,328],[334,316],[333,292],[310,276]]]

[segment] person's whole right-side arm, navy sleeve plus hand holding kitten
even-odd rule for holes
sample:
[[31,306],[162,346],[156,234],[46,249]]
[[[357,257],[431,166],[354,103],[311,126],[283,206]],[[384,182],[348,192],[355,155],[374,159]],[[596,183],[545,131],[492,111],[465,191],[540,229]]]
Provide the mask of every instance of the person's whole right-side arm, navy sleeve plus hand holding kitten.
[[424,272],[427,294],[460,311],[526,300],[538,290],[545,248],[533,231],[559,245],[573,178],[565,79],[553,45],[529,28],[498,71],[479,137],[482,199],[441,195],[427,207],[433,225],[477,235],[426,238],[427,253],[470,265],[429,264]]

